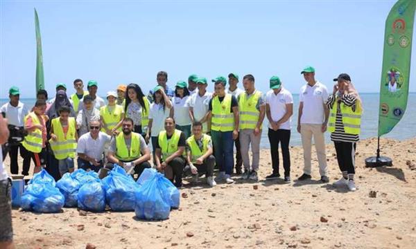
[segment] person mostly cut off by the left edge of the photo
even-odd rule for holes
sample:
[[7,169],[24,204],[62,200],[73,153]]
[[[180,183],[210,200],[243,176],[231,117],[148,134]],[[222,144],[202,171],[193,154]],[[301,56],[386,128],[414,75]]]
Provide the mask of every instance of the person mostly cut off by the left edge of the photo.
[[[9,131],[7,119],[0,115],[0,145],[7,142]],[[0,248],[15,248],[13,246],[12,228],[12,181],[3,165],[3,155],[0,150]]]

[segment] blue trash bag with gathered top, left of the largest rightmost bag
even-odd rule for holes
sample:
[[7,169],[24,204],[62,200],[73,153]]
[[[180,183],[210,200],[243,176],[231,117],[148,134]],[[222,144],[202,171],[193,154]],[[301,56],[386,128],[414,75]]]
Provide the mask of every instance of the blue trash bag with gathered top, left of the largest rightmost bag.
[[102,181],[105,189],[105,201],[110,205],[111,210],[118,212],[135,210],[139,185],[131,176],[111,171]]

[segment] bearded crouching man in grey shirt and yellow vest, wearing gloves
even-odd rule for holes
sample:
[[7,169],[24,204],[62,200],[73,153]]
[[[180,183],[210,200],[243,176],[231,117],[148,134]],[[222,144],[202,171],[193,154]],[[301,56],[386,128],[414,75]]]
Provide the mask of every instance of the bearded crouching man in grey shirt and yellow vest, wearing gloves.
[[[151,167],[150,151],[141,134],[133,132],[135,125],[131,118],[125,118],[121,125],[123,132],[112,140],[107,160],[122,166],[128,174],[134,171],[139,177],[144,169]],[[105,167],[112,169],[109,164]]]

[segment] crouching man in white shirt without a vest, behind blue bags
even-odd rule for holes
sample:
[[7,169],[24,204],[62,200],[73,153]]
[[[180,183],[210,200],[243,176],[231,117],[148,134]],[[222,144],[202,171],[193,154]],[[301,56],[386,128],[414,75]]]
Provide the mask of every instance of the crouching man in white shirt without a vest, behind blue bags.
[[92,169],[98,172],[104,165],[103,153],[111,137],[100,131],[101,122],[89,121],[89,132],[78,139],[78,169]]

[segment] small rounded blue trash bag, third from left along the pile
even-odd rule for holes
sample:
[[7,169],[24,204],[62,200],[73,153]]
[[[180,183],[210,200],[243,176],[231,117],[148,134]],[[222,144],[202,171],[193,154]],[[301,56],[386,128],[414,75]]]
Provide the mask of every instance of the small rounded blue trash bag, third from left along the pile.
[[92,212],[105,210],[105,190],[100,180],[89,181],[80,187],[78,208]]

